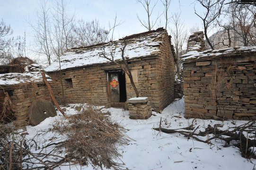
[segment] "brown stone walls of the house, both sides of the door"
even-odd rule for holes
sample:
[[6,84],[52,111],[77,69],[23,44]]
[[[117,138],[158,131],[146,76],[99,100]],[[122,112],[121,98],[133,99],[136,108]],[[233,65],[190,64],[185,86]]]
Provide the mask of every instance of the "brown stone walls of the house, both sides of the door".
[[[148,97],[156,111],[162,110],[174,99],[175,65],[171,53],[168,34],[163,34],[164,42],[160,52],[148,57],[128,61],[132,76],[140,96]],[[107,71],[120,69],[116,64],[104,63],[81,68],[62,70],[64,98],[68,103],[93,103],[109,105],[107,92]],[[61,76],[58,72],[48,73],[52,79],[53,92],[62,100]],[[72,87],[70,82],[72,81]],[[127,99],[135,97],[135,92],[126,75]]]

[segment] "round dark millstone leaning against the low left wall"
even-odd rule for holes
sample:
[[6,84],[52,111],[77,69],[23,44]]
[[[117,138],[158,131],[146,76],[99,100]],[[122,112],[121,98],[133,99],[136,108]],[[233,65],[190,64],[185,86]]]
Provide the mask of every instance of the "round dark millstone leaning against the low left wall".
[[37,99],[32,102],[28,108],[29,123],[32,125],[38,125],[44,119],[48,117],[54,117],[57,115],[56,110],[51,102],[44,99]]

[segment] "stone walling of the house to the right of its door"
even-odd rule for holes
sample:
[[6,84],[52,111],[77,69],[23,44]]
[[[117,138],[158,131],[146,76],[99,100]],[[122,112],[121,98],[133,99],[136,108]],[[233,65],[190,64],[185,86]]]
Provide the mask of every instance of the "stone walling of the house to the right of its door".
[[[132,70],[138,69],[138,82],[135,83],[140,96],[148,97],[155,111],[163,110],[174,100],[175,64],[168,34],[164,34],[163,44],[158,55],[141,58],[140,64],[133,64]],[[160,40],[161,41],[161,40]],[[127,84],[127,99],[135,97],[131,84]]]

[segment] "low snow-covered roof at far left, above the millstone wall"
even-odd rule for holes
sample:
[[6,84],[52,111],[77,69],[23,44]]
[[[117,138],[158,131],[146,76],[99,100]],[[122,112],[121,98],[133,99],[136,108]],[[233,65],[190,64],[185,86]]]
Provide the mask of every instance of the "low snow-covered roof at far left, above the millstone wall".
[[[13,86],[20,83],[40,83],[43,82],[41,72],[43,68],[38,64],[26,66],[23,73],[5,73],[0,74],[0,86]],[[45,75],[48,81],[50,77]]]

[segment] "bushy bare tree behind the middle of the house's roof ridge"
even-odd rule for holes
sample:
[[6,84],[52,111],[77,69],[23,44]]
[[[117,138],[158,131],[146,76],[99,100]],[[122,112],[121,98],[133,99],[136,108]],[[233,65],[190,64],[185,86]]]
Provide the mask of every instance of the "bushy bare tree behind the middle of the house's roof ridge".
[[108,40],[109,31],[105,27],[100,26],[97,19],[90,22],[79,19],[76,25],[72,27],[72,47],[85,47]]

